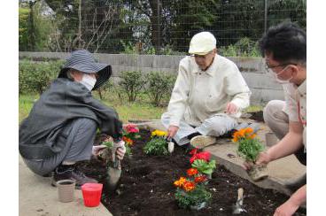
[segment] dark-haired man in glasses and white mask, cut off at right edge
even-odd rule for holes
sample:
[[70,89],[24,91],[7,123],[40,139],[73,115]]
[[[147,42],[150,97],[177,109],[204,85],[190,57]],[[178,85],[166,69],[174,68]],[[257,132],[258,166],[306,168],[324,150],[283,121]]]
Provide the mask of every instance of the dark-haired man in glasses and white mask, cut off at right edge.
[[[280,139],[260,154],[257,164],[283,158],[292,153],[306,166],[307,128],[307,39],[306,33],[292,23],[270,27],[260,39],[260,50],[268,73],[283,84],[285,101],[270,101],[264,109],[264,120]],[[250,168],[245,164],[246,168]],[[306,202],[306,174],[288,182],[294,194],[276,209],[275,216],[292,215]]]

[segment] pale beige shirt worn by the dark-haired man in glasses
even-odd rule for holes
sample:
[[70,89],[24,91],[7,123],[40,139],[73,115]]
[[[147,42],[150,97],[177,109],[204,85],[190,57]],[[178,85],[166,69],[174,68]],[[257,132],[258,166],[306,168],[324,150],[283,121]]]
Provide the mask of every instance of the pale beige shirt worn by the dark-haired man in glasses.
[[300,122],[303,127],[303,144],[307,147],[307,81],[299,87],[290,83],[283,85],[285,92],[285,107],[283,112],[289,115],[289,120]]

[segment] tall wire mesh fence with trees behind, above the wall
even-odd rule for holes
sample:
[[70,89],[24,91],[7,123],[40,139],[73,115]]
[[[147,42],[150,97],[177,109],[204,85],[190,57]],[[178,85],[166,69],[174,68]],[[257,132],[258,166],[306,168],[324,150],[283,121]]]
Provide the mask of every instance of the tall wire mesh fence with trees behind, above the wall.
[[20,0],[19,50],[185,54],[210,31],[224,56],[259,56],[268,27],[306,28],[306,0]]

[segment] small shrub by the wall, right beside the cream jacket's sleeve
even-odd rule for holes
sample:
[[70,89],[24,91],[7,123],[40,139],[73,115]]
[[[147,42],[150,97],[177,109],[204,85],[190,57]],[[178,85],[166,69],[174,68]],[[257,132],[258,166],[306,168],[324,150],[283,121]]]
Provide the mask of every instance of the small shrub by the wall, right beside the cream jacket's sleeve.
[[170,96],[174,88],[176,76],[161,72],[151,72],[146,74],[148,87],[147,94],[151,98],[151,103],[159,106],[162,98]]

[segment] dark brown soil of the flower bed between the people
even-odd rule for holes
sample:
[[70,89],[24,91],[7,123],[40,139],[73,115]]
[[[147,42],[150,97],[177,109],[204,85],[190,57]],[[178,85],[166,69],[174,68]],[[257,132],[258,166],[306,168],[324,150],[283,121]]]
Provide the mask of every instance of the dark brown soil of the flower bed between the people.
[[[179,147],[171,156],[146,156],[143,146],[149,140],[150,133],[141,130],[141,135],[142,141],[136,141],[132,147],[132,158],[126,157],[122,161],[120,195],[104,187],[102,203],[114,216],[232,215],[232,204],[236,202],[240,187],[245,189],[244,208],[247,211],[241,215],[273,215],[276,207],[288,199],[274,190],[260,189],[223,166],[218,166],[208,183],[213,194],[211,204],[200,211],[180,209],[175,202],[173,181],[181,175],[185,176],[190,168],[188,152]],[[103,163],[93,159],[83,169],[89,176],[105,181]],[[306,215],[306,212],[300,209],[296,215]]]

